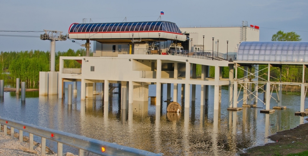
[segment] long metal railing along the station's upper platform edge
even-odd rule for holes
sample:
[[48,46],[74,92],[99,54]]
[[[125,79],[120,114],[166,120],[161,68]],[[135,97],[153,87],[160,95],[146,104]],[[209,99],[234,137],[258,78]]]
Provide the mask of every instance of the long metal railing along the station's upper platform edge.
[[101,56],[113,56],[116,57],[119,54],[134,54],[134,55],[177,55],[184,57],[193,57],[206,60],[236,60],[236,55],[227,55],[216,51],[189,51],[189,50],[169,50],[166,49],[119,49],[118,51],[84,51],[83,56],[101,57]]

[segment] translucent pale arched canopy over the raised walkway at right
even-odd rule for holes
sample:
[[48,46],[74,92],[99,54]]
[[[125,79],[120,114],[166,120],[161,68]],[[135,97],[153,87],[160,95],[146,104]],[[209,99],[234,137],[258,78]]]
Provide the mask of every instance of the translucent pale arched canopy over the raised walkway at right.
[[239,44],[236,60],[308,62],[308,42],[242,42]]

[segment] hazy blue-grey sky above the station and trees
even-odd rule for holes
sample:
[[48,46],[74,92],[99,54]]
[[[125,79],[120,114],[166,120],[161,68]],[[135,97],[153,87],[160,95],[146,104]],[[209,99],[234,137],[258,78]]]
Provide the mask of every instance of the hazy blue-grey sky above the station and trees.
[[[0,0],[0,30],[42,31],[43,29],[67,33],[71,23],[82,23],[92,18],[94,23],[156,21],[161,19],[178,26],[194,25],[248,25],[260,27],[260,41],[269,41],[279,30],[295,31],[302,41],[308,41],[307,0]],[[147,17],[145,17],[147,16]],[[271,28],[271,29],[269,29]],[[39,35],[40,33],[5,33],[0,35]],[[209,36],[211,38],[211,36]],[[84,41],[77,41],[83,43]],[[81,48],[71,41],[57,41],[56,51]],[[47,40],[28,37],[0,36],[0,51],[50,49]]]

